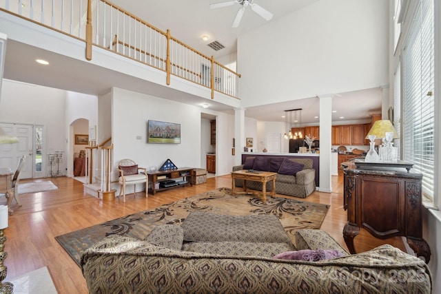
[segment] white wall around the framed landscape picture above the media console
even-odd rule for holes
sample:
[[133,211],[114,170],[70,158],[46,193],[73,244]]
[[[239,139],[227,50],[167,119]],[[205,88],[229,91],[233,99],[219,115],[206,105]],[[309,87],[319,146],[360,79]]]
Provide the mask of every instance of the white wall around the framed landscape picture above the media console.
[[[201,107],[113,88],[112,140],[114,167],[119,160],[131,158],[142,167],[161,167],[169,158],[177,167],[201,167]],[[206,109],[203,110],[207,112]],[[213,114],[216,114],[213,112]],[[227,174],[232,165],[229,140],[230,116],[216,114],[216,174]],[[181,144],[147,143],[147,121],[160,120],[181,124]],[[141,139],[136,139],[141,136]],[[228,147],[228,148],[227,148]]]

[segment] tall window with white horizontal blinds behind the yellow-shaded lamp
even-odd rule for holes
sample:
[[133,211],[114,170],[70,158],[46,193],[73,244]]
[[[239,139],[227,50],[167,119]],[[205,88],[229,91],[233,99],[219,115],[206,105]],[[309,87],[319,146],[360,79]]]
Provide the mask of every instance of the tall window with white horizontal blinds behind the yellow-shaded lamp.
[[403,158],[423,175],[424,195],[433,199],[434,35],[433,0],[420,0],[403,50]]

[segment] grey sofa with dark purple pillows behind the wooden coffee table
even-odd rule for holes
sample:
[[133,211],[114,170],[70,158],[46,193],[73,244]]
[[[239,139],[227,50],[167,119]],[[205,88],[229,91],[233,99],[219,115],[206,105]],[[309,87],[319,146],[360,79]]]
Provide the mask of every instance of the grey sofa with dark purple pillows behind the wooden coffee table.
[[[316,171],[310,158],[283,158],[272,156],[247,157],[243,165],[236,165],[233,171],[254,169],[276,172],[276,193],[306,198],[316,190]],[[243,180],[236,179],[236,187],[243,187]],[[262,191],[261,182],[247,182],[247,188]],[[271,191],[267,182],[267,191]]]

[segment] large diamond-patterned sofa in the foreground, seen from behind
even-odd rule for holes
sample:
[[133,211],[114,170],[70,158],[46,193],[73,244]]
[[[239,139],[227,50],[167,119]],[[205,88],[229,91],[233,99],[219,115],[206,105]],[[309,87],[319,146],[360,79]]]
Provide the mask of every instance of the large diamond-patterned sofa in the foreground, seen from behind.
[[[431,293],[427,265],[390,245],[347,255],[327,233],[301,230],[298,251],[289,253],[321,248],[344,256],[273,258],[294,245],[280,233],[278,219],[267,217],[162,225],[145,240],[110,235],[83,253],[83,275],[90,293]],[[205,229],[198,230],[201,223]],[[225,224],[234,225],[218,231]]]

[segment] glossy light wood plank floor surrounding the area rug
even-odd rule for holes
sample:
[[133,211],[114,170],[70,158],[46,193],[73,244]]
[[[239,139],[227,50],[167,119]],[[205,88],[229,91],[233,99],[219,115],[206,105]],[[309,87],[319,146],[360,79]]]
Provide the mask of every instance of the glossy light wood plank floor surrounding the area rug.
[[[162,191],[156,193],[155,196],[149,195],[148,198],[145,198],[145,193],[136,193],[135,196],[132,194],[127,196],[126,202],[123,203],[118,198],[112,202],[103,202],[85,194],[83,183],[72,178],[40,180],[52,180],[59,189],[23,194],[20,196],[22,207],[18,207],[13,200],[14,214],[10,216],[9,227],[5,230],[8,238],[5,243],[5,251],[8,253],[8,258],[5,260],[5,265],[8,266],[6,281],[48,266],[59,293],[88,293],[88,289],[79,266],[55,240],[57,235],[137,211],[154,209],[161,204],[197,193],[219,187],[231,187],[231,176],[220,176],[208,178],[207,182],[202,185]],[[347,221],[346,211],[343,209],[342,176],[333,176],[332,180],[335,193],[316,191],[304,200],[331,205],[321,229],[346,246],[342,237],[342,229]],[[0,204],[6,204],[6,199],[0,198]],[[363,230],[355,238],[358,251],[367,251],[384,243],[404,250],[400,238],[378,240]]]

